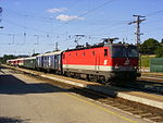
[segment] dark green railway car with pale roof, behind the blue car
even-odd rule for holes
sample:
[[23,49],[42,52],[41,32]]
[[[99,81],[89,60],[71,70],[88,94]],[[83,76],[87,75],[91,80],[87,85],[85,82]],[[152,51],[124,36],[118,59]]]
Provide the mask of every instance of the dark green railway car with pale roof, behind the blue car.
[[23,66],[35,70],[36,69],[36,57],[24,58]]

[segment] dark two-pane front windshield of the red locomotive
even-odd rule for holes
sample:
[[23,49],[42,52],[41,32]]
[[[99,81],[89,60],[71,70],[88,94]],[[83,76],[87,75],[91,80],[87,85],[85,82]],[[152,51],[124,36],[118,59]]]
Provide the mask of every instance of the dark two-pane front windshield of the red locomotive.
[[112,57],[114,58],[137,58],[138,49],[135,46],[113,46]]

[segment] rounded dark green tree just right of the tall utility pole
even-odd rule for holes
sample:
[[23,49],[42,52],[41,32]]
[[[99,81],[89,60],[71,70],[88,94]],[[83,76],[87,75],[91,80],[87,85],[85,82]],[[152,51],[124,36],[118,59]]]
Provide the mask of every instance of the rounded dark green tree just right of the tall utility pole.
[[140,45],[140,52],[143,54],[154,54],[159,47],[160,44],[158,40],[149,38]]

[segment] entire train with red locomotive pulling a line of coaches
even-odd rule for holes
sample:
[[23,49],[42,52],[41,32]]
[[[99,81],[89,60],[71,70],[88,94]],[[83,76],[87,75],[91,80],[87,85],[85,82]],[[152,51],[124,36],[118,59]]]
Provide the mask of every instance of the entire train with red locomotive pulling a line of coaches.
[[93,46],[78,46],[75,49],[8,60],[7,63],[104,84],[125,85],[140,75],[138,61],[137,46],[103,41]]

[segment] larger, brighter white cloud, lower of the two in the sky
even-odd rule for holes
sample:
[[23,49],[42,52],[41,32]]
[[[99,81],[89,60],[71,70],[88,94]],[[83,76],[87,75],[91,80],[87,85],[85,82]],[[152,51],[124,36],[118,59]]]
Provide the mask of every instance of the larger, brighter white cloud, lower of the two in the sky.
[[84,17],[78,17],[76,15],[65,15],[65,14],[60,14],[55,19],[63,22],[73,21],[73,20],[84,20]]

